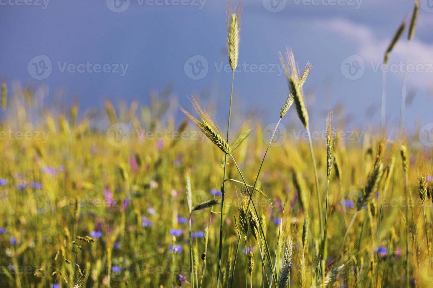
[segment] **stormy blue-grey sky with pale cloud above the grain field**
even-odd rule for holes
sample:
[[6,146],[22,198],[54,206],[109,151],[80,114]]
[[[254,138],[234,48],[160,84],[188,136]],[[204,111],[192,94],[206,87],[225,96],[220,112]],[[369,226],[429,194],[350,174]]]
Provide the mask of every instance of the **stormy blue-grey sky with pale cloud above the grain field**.
[[[278,51],[284,52],[287,45],[299,66],[313,64],[304,86],[313,127],[324,127],[325,112],[336,105],[343,105],[348,126],[376,127],[382,82],[378,65],[398,25],[409,21],[413,1],[272,0],[273,6],[269,1],[243,3],[234,112],[242,117],[252,113],[265,124],[278,120],[288,93]],[[84,110],[102,107],[105,99],[146,104],[151,90],[172,84],[180,104],[191,108],[186,95],[200,94],[201,101],[216,103],[218,121],[224,122],[231,83],[231,73],[224,70],[228,64],[225,1],[116,0],[117,6],[114,0],[20,3],[0,0],[0,77],[10,87],[14,83],[43,87],[45,104],[52,106],[61,91],[61,101],[79,99]],[[407,91],[415,95],[405,116],[411,130],[415,123],[433,122],[429,94],[433,8],[427,4],[421,3],[407,58],[407,63],[420,65],[418,72],[408,73]],[[125,11],[113,12],[119,11],[116,7]],[[403,77],[398,65],[404,63],[407,31],[403,38],[389,61],[395,71],[387,73],[386,116],[392,127],[398,125]],[[200,71],[206,73],[191,79],[192,67],[199,65],[197,60],[206,64],[203,59],[207,65]],[[364,72],[348,79],[349,66],[359,59]],[[35,65],[39,69],[49,65],[51,72],[38,79]],[[176,105],[173,113],[181,116]],[[294,110],[284,121],[299,123]]]

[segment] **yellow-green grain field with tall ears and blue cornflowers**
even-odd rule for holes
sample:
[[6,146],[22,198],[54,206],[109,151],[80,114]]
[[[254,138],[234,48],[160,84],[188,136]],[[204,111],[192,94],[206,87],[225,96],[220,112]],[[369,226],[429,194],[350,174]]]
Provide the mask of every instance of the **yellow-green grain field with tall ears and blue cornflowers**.
[[[416,37],[418,7],[384,64]],[[329,111],[321,133],[303,89],[314,63],[282,47],[289,93],[264,127],[232,113],[241,16],[230,2],[228,119],[195,95],[172,117],[170,89],[78,117],[79,105],[46,108],[32,86],[3,83],[1,287],[432,285],[433,150],[403,127],[407,79],[398,133],[383,120],[385,74],[380,124],[348,131]],[[304,137],[281,141],[286,127]]]

